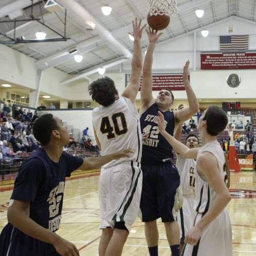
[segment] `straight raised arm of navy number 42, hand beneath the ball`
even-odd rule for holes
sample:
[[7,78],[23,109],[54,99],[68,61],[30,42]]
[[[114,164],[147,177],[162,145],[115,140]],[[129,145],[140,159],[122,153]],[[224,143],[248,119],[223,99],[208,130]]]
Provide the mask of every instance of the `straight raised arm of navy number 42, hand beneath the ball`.
[[162,33],[157,34],[157,30],[148,28],[147,30],[149,37],[149,46],[143,63],[143,74],[142,74],[142,87],[140,92],[141,108],[140,114],[145,112],[154,102],[155,99],[152,95],[152,64],[153,64],[153,53],[155,50],[156,42]]

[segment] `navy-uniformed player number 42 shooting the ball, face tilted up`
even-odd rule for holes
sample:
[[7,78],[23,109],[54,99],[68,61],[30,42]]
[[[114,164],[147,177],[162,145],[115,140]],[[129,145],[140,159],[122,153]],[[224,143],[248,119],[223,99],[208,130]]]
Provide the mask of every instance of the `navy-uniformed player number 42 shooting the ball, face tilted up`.
[[141,88],[140,123],[142,133],[148,134],[142,147],[141,169],[143,173],[140,209],[145,223],[145,236],[151,256],[158,255],[158,229],[156,220],[161,217],[166,228],[172,255],[179,255],[179,227],[173,216],[175,195],[180,177],[172,164],[172,147],[159,134],[157,116],[161,111],[166,121],[166,131],[173,135],[180,122],[190,119],[198,111],[196,96],[189,83],[189,61],[184,67],[183,81],[188,96],[189,107],[171,112],[173,94],[168,89],[160,90],[156,100],[152,95],[152,62],[156,41],[160,34],[148,29],[149,46],[143,65]]

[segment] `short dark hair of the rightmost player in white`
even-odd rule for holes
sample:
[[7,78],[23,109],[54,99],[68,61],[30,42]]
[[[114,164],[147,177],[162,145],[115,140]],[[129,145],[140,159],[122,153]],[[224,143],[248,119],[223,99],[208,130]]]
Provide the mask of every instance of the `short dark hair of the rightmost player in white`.
[[211,136],[217,136],[224,131],[228,124],[227,114],[218,106],[208,107],[203,120],[207,121],[206,131]]

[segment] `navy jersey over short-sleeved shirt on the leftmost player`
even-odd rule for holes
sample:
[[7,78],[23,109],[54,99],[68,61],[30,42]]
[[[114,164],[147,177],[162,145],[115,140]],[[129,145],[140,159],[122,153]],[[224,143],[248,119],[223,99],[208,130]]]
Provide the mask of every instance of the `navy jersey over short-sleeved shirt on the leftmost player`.
[[11,199],[29,201],[29,217],[40,226],[59,229],[66,177],[83,164],[83,158],[62,153],[53,162],[40,149],[25,161],[17,175]]

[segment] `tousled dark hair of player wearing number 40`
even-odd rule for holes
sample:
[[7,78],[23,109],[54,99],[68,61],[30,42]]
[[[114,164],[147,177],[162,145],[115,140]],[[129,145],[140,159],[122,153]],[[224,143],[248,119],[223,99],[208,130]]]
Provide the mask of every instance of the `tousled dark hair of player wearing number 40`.
[[109,106],[115,102],[118,94],[114,81],[109,77],[99,78],[89,85],[89,95],[102,106]]

